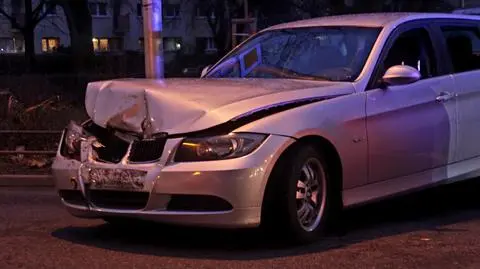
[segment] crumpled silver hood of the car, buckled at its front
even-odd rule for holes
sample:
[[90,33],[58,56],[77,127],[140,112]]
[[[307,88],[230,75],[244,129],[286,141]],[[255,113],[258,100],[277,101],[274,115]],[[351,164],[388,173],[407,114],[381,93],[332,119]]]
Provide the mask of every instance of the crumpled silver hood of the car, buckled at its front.
[[263,108],[354,92],[345,82],[291,79],[118,79],[91,82],[92,121],[135,133],[189,133]]

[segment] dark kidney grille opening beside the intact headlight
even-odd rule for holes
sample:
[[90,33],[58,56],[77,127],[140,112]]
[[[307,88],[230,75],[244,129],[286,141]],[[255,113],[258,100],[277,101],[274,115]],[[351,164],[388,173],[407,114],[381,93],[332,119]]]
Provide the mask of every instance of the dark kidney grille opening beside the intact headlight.
[[166,136],[134,141],[129,161],[133,163],[154,162],[162,157]]

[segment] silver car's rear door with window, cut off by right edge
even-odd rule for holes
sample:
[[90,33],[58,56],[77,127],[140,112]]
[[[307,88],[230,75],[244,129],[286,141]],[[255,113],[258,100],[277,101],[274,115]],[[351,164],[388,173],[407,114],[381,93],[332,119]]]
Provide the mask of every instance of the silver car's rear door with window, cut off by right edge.
[[480,156],[480,23],[438,24],[458,88],[458,161]]

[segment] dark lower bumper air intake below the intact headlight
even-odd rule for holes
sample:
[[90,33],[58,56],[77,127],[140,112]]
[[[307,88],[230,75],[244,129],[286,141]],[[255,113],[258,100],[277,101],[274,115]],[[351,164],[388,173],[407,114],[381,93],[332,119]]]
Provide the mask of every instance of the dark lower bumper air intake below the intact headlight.
[[167,210],[172,211],[230,211],[232,205],[222,198],[209,195],[172,195]]

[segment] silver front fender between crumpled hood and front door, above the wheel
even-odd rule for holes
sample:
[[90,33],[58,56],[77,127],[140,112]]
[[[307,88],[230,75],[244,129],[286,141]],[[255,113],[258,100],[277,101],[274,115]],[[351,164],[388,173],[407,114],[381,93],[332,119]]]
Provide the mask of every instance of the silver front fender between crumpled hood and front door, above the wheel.
[[337,97],[278,113],[236,131],[273,133],[297,139],[323,137],[336,147],[340,155],[343,187],[353,188],[367,183],[365,93]]

